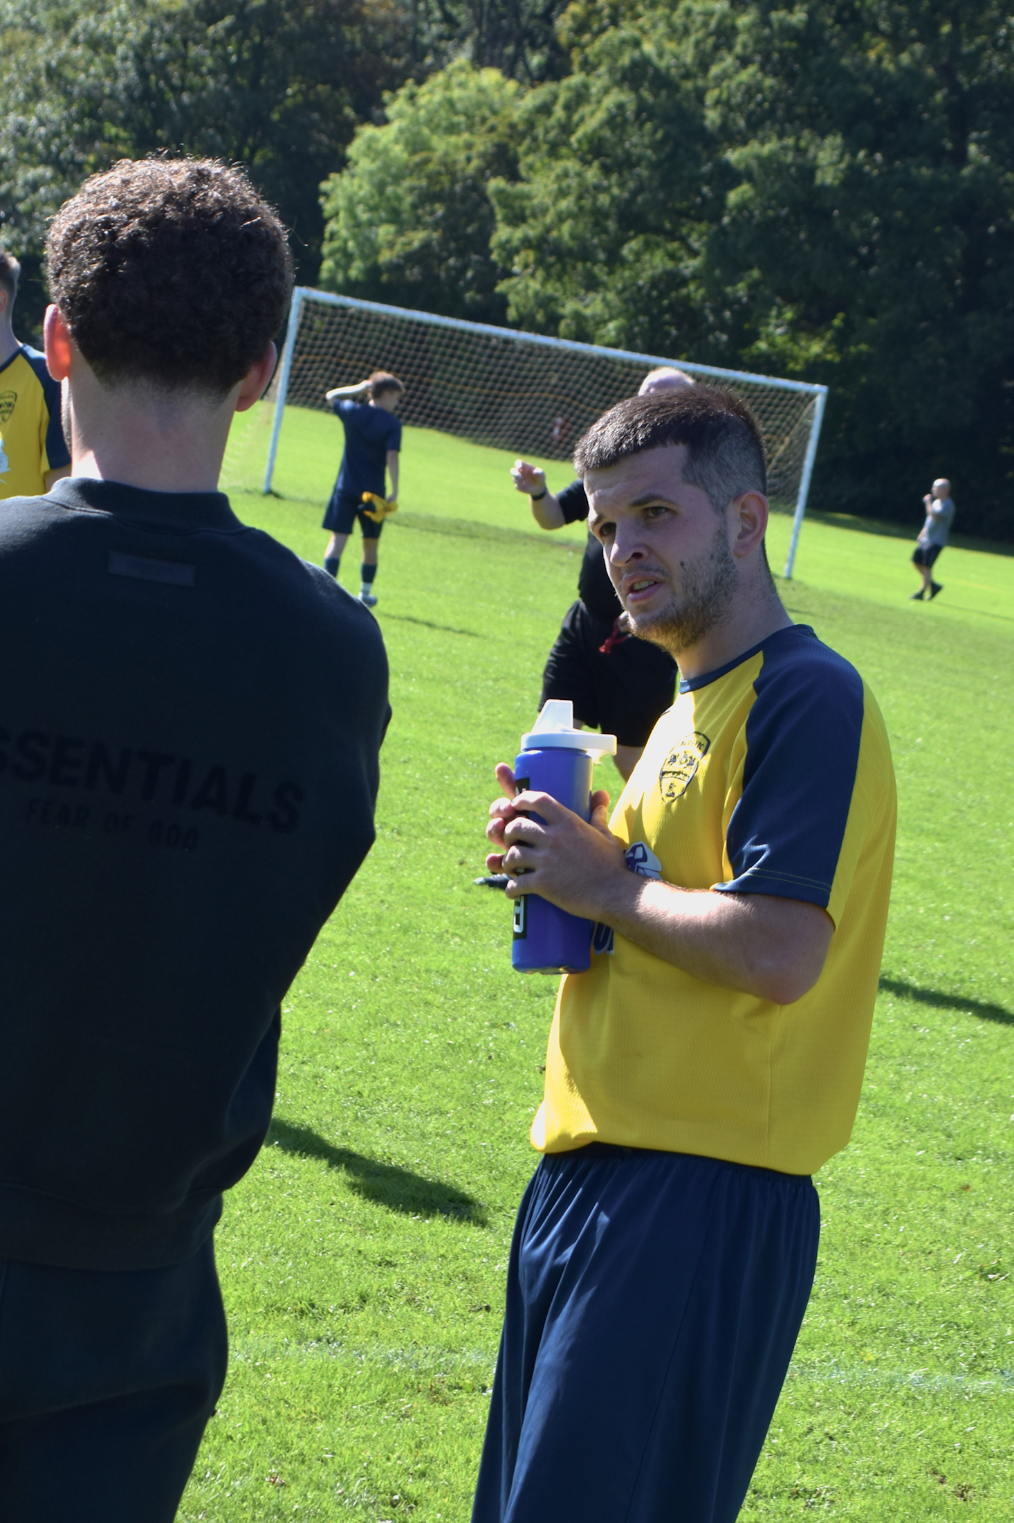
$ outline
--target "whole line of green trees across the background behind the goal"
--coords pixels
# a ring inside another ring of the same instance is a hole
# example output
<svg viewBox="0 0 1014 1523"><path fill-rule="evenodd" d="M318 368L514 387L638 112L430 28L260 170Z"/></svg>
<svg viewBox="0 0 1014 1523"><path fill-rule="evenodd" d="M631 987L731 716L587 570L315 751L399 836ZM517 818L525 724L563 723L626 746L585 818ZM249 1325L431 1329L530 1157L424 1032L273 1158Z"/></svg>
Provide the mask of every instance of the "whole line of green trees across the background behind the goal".
<svg viewBox="0 0 1014 1523"><path fill-rule="evenodd" d="M1014 539L1014 67L996 0L3 0L0 195L242 158L300 279L824 381L813 504ZM17 250L15 250L17 251Z"/></svg>

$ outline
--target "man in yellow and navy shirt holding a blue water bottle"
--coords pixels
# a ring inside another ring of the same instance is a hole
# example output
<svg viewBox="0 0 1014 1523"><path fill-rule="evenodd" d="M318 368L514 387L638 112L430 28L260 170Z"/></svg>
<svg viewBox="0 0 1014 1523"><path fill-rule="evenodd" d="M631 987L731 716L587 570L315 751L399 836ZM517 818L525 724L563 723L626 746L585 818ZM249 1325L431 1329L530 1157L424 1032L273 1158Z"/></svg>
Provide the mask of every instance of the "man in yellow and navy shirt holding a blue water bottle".
<svg viewBox="0 0 1014 1523"><path fill-rule="evenodd" d="M732 1523L810 1295L810 1176L859 1103L891 752L859 673L778 599L738 398L621 402L574 465L681 684L609 821L606 793L585 824L498 768L490 870L595 935L550 1033L474 1520Z"/></svg>

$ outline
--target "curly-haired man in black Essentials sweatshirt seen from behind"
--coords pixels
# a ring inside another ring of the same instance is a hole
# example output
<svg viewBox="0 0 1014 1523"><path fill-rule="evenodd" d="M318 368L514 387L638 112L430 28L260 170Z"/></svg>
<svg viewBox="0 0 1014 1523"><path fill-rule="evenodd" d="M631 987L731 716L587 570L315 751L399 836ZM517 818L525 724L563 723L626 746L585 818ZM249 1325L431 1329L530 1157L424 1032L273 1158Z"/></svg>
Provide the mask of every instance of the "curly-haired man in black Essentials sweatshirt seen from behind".
<svg viewBox="0 0 1014 1523"><path fill-rule="evenodd" d="M387 661L216 490L291 280L247 178L123 161L47 268L73 472L0 516L0 1517L171 1523L225 1375L222 1191L373 842Z"/></svg>

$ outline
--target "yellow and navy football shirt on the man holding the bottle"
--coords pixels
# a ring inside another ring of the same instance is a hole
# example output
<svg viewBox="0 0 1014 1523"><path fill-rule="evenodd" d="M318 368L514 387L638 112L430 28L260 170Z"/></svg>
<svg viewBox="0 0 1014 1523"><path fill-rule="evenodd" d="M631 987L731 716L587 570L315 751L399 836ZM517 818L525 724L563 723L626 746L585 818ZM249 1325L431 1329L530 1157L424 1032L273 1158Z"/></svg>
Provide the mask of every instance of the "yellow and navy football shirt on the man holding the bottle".
<svg viewBox="0 0 1014 1523"><path fill-rule="evenodd" d="M632 871L775 894L834 923L792 1005L684 973L609 928L560 984L536 1148L586 1142L812 1174L851 1135L891 896L895 787L877 704L812 629L681 682L611 819Z"/></svg>

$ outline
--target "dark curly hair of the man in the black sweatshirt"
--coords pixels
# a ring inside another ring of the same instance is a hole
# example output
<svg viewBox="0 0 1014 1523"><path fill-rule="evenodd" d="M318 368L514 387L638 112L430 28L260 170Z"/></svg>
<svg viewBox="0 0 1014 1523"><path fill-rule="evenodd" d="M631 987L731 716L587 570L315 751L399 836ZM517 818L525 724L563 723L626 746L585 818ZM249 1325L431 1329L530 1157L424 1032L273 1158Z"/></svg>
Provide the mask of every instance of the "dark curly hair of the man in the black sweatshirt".
<svg viewBox="0 0 1014 1523"><path fill-rule="evenodd" d="M122 158L56 213L46 273L100 382L224 396L282 327L292 259L242 169Z"/></svg>

